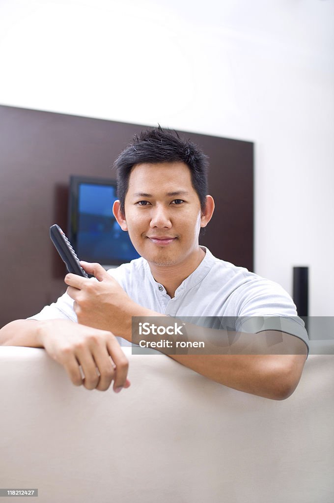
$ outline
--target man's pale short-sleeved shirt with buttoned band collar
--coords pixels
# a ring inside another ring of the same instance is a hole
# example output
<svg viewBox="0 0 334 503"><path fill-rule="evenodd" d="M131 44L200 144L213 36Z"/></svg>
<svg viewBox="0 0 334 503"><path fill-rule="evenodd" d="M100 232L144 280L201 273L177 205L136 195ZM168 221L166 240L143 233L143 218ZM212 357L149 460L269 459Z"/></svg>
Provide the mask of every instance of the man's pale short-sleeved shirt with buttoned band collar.
<svg viewBox="0 0 334 503"><path fill-rule="evenodd" d="M249 333L282 330L302 339L309 351L304 322L279 284L216 259L208 248L201 248L205 251L204 259L177 288L173 299L154 280L143 258L109 269L108 273L134 302L158 313L217 329ZM73 300L67 293L29 319L56 318L77 321ZM124 340L121 342L127 345Z"/></svg>

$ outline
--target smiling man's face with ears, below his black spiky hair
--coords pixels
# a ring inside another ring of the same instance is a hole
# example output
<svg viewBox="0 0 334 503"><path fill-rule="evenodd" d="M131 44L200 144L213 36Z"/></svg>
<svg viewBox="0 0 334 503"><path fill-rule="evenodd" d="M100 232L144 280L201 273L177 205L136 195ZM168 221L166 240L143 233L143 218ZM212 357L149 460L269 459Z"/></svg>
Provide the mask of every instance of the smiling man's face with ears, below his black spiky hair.
<svg viewBox="0 0 334 503"><path fill-rule="evenodd" d="M156 266L186 264L208 221L183 162L137 164L129 177L125 215L119 216L118 211L139 255Z"/></svg>

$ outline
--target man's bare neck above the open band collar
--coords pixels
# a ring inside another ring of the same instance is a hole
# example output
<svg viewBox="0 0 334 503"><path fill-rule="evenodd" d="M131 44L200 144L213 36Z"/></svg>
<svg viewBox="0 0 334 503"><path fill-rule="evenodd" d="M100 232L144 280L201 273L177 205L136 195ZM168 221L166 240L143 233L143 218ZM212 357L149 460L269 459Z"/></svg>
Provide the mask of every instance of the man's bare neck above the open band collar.
<svg viewBox="0 0 334 503"><path fill-rule="evenodd" d="M173 298L177 288L198 268L204 257L205 251L198 247L190 257L187 257L180 264L170 266L157 266L150 262L148 264L155 281L161 283L168 295Z"/></svg>

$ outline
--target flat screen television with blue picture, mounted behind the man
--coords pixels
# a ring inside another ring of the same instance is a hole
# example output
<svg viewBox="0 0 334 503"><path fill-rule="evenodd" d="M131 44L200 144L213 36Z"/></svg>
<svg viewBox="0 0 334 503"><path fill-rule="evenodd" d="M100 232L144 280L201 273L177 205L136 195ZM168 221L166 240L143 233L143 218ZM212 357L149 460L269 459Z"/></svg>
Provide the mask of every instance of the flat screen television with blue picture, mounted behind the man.
<svg viewBox="0 0 334 503"><path fill-rule="evenodd" d="M113 215L116 199L115 180L70 176L67 234L80 260L108 268L139 257Z"/></svg>

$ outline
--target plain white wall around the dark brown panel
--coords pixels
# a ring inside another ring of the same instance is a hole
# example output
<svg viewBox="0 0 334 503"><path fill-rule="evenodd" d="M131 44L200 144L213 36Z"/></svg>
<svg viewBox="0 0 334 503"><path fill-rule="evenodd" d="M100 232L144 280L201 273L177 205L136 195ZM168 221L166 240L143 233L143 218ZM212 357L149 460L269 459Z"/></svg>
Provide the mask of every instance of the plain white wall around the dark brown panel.
<svg viewBox="0 0 334 503"><path fill-rule="evenodd" d="M0 0L0 103L254 141L255 271L292 293L309 266L330 316L333 21L333 0Z"/></svg>

